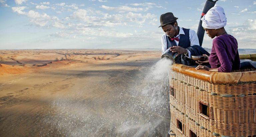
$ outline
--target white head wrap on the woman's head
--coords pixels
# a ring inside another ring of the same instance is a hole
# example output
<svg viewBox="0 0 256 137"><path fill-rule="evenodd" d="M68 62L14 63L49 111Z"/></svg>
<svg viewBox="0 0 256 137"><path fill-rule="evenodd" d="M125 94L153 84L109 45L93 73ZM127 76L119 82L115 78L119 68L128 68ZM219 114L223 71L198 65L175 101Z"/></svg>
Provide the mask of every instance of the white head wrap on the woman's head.
<svg viewBox="0 0 256 137"><path fill-rule="evenodd" d="M206 29L219 29L227 24L224 9L220 6L212 7L201 20L202 26Z"/></svg>

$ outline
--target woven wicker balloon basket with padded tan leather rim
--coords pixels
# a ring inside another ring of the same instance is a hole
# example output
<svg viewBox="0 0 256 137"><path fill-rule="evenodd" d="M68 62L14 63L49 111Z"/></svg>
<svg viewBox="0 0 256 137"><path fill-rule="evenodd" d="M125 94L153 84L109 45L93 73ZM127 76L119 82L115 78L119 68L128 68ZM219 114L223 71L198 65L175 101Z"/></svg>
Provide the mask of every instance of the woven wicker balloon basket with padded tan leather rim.
<svg viewBox="0 0 256 137"><path fill-rule="evenodd" d="M220 73L174 64L169 81L172 135L256 135L256 71Z"/></svg>

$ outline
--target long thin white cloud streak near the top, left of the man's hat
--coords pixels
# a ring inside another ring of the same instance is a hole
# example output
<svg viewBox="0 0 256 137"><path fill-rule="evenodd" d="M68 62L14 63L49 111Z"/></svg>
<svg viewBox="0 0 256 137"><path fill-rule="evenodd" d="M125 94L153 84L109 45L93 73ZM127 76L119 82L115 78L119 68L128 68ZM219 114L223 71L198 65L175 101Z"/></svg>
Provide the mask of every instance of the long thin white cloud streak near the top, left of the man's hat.
<svg viewBox="0 0 256 137"><path fill-rule="evenodd" d="M128 6L109 7L109 6L102 5L102 6L100 6L100 8L103 8L105 10L117 11L120 13L126 12L126 11L135 11L135 12L144 11L143 8L132 8L132 7L128 7Z"/></svg>

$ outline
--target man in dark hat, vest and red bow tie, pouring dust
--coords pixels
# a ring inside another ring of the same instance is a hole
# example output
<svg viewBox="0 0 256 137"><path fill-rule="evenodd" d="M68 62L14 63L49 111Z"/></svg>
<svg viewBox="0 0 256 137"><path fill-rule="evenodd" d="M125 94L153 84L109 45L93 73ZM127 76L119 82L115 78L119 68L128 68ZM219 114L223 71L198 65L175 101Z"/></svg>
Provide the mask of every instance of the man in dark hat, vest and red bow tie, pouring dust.
<svg viewBox="0 0 256 137"><path fill-rule="evenodd" d="M191 29L180 28L176 21L177 19L171 12L160 16L161 25L159 27L162 27L165 32L162 36L162 54L167 49L170 49L172 52L177 52L176 63L188 66L197 65L195 61L191 60L191 55L210 54L199 46L196 32Z"/></svg>

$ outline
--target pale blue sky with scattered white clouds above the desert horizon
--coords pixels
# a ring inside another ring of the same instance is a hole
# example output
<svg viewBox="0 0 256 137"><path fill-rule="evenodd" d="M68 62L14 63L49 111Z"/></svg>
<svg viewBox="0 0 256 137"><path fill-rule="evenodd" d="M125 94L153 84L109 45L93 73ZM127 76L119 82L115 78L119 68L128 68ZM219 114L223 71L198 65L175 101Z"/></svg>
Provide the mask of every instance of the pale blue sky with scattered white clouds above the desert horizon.
<svg viewBox="0 0 256 137"><path fill-rule="evenodd" d="M214 0L215 1L215 0ZM197 32L206 0L0 0L0 49L161 49L160 15ZM256 48L256 0L219 0L238 48ZM204 35L202 47L211 48Z"/></svg>

